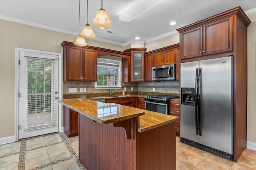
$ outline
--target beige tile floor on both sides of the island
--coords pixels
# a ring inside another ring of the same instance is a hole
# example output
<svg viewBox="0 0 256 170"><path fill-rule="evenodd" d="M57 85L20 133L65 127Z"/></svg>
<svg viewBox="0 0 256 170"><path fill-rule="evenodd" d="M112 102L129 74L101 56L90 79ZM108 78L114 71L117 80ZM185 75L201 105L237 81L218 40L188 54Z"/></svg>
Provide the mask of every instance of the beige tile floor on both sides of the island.
<svg viewBox="0 0 256 170"><path fill-rule="evenodd" d="M78 170L78 137L55 133L0 146L0 170ZM191 147L176 137L176 170L256 170L256 151L237 162Z"/></svg>

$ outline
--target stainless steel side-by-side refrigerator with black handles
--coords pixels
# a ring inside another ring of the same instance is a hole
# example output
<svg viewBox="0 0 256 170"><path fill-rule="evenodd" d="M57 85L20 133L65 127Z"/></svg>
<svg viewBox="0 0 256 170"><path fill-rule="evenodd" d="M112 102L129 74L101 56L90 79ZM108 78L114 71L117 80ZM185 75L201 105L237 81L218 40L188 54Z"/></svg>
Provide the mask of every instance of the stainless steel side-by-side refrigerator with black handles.
<svg viewBox="0 0 256 170"><path fill-rule="evenodd" d="M233 160L232 56L180 65L180 141Z"/></svg>

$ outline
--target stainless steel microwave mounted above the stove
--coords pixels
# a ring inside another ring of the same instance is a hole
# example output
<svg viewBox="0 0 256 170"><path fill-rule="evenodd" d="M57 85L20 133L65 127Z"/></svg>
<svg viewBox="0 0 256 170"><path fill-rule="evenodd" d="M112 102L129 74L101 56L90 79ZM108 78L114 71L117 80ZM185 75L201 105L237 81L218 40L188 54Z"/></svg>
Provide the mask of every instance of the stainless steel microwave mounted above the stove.
<svg viewBox="0 0 256 170"><path fill-rule="evenodd" d="M152 67L152 80L175 80L176 64Z"/></svg>

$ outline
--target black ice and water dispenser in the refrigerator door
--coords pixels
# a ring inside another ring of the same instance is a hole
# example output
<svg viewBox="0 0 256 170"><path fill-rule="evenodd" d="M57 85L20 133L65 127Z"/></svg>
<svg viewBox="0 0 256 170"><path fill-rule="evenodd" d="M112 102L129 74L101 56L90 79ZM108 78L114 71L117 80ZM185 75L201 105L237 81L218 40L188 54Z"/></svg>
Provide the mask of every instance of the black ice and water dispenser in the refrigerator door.
<svg viewBox="0 0 256 170"><path fill-rule="evenodd" d="M181 88L181 104L196 105L195 88Z"/></svg>

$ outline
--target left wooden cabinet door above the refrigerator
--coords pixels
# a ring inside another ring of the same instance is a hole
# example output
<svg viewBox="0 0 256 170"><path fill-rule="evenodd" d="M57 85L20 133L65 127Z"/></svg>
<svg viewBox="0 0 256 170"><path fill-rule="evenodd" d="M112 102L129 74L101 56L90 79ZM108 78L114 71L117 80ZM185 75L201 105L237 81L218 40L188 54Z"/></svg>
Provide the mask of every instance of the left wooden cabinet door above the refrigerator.
<svg viewBox="0 0 256 170"><path fill-rule="evenodd" d="M202 26L180 33L181 59L202 56Z"/></svg>

